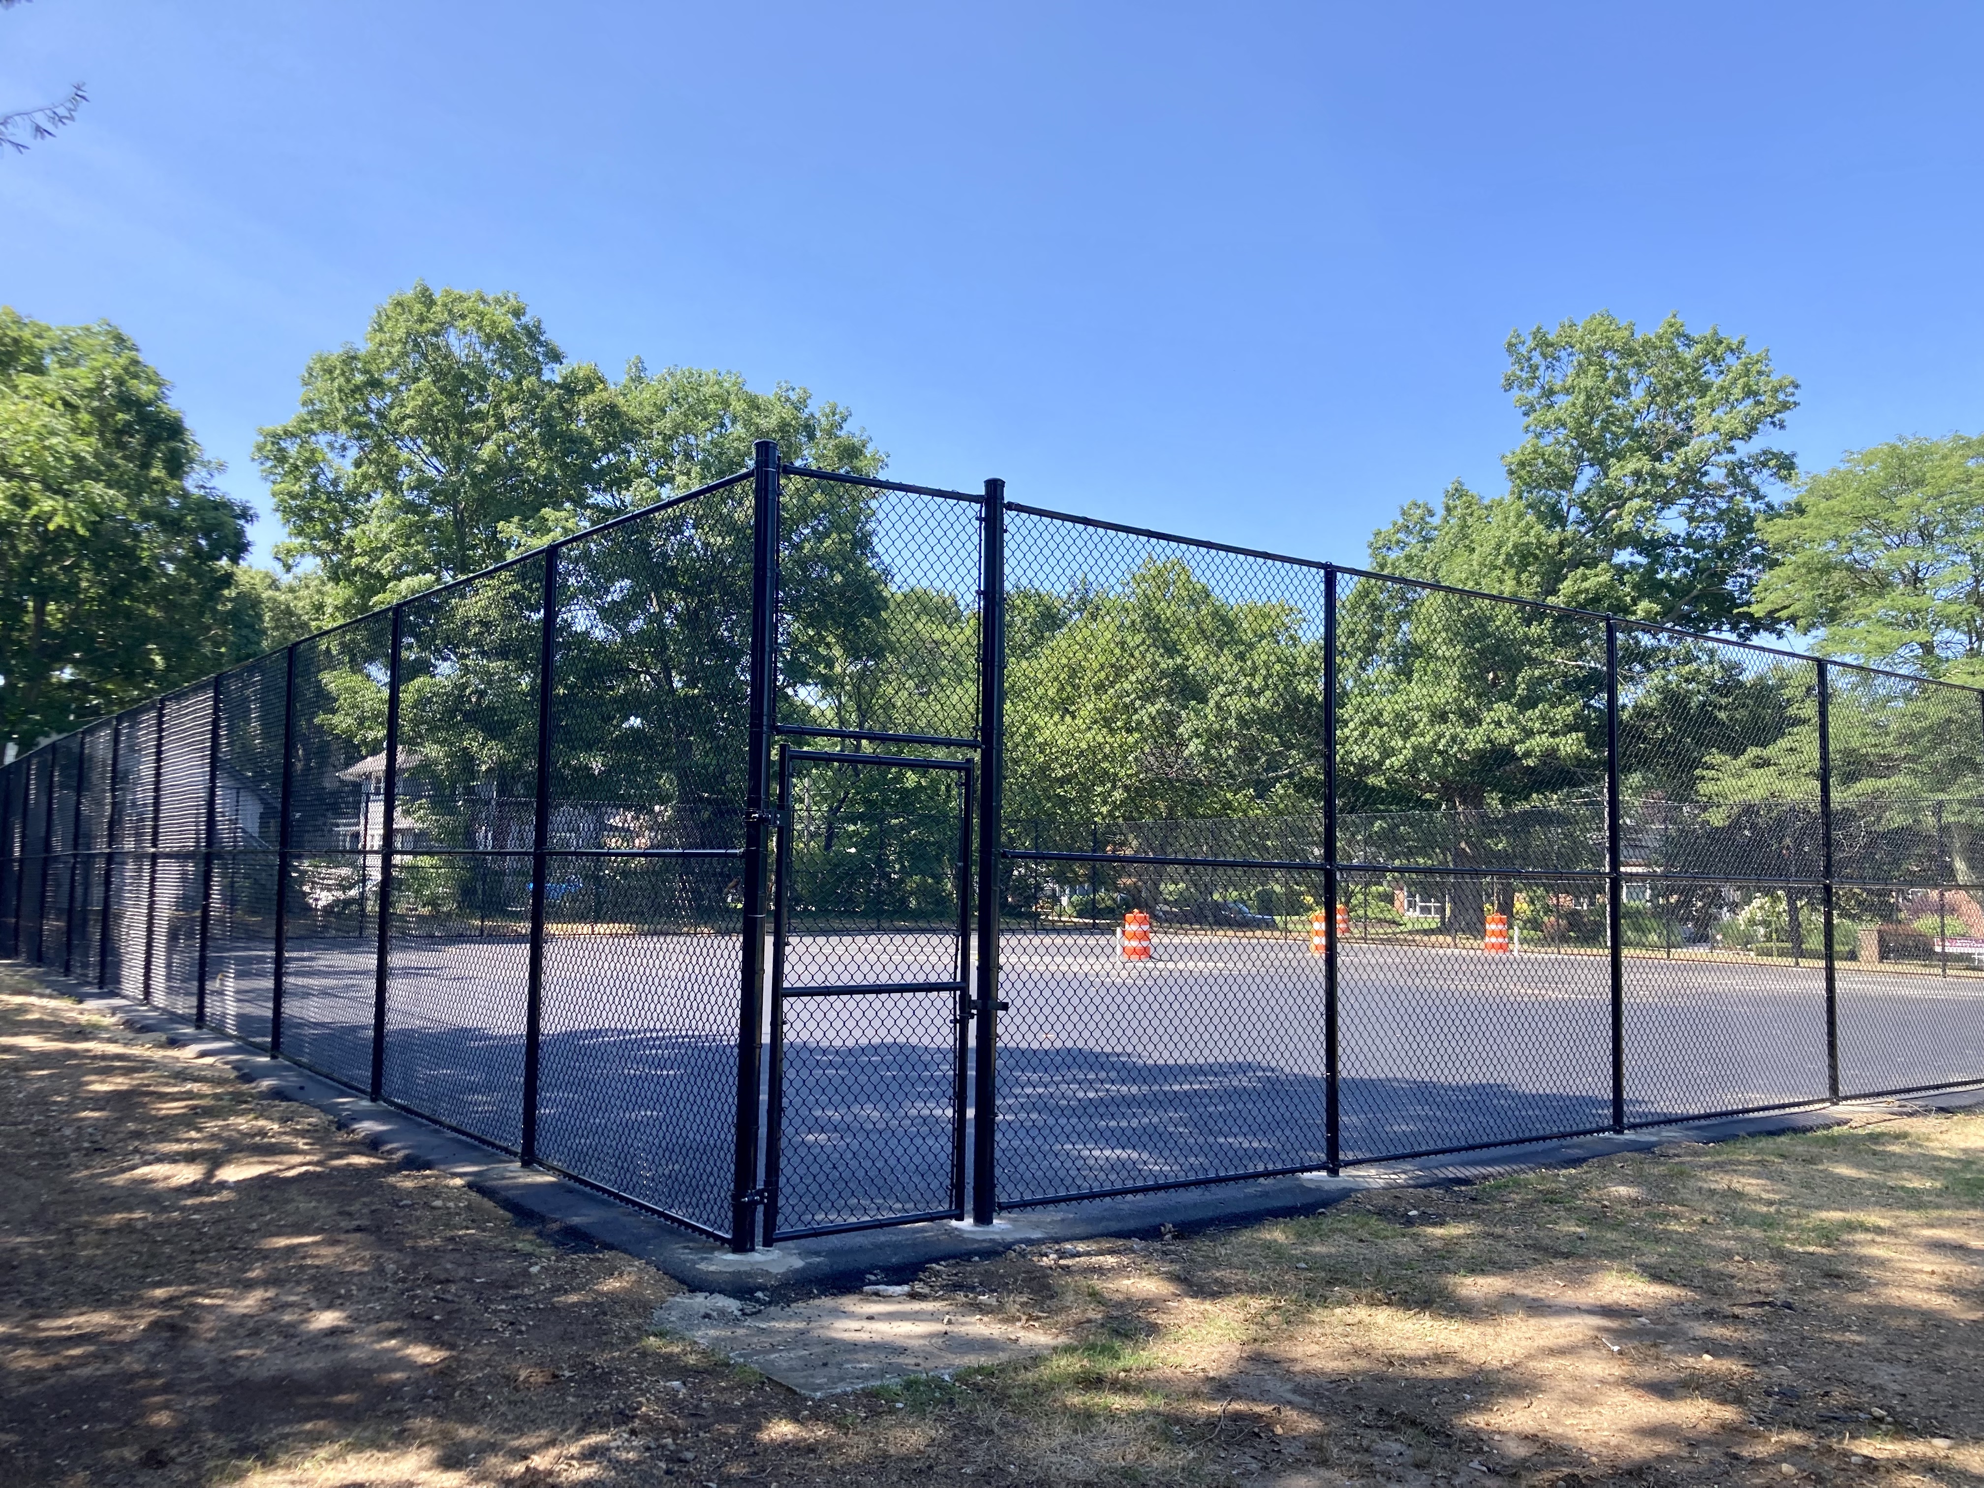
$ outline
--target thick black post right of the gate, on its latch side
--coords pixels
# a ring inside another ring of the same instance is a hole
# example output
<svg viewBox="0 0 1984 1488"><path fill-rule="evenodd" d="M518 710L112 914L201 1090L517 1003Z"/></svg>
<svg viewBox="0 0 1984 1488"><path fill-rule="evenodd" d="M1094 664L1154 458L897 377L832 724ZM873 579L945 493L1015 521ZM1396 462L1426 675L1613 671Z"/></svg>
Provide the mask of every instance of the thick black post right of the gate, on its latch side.
<svg viewBox="0 0 1984 1488"><path fill-rule="evenodd" d="M1006 790L1006 482L978 510L978 996L972 1004L972 1224L998 1216L998 952ZM1095 901L1089 899L1089 915Z"/></svg>

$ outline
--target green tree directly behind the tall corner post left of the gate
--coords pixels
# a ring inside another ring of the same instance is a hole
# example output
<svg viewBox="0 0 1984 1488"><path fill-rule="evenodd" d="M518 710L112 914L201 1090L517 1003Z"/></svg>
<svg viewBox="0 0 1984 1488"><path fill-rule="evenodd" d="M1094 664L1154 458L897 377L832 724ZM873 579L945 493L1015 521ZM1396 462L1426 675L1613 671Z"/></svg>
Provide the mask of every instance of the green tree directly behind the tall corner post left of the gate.
<svg viewBox="0 0 1984 1488"><path fill-rule="evenodd" d="M748 466L760 438L815 470L873 476L883 464L845 409L815 407L806 389L752 393L734 373L677 367L651 377L635 363L619 395L633 434L625 500L637 506ZM875 498L792 476L782 518L782 716L889 726L877 720L899 714L863 688L903 690L901 669L889 665L889 615L913 601L893 597ZM671 806L669 831L722 839L746 766L750 486L579 540L563 550L559 573L571 609L559 655L559 684L571 688L559 714L561 788Z"/></svg>

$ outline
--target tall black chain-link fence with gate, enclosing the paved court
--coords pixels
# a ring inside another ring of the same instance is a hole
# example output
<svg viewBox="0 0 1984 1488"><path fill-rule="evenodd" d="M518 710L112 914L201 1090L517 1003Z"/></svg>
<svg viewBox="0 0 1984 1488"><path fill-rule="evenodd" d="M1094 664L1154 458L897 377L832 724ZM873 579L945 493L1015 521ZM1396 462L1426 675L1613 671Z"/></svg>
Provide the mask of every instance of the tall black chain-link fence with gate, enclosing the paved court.
<svg viewBox="0 0 1984 1488"><path fill-rule="evenodd" d="M10 762L0 952L732 1246L982 1222L1984 1081L1984 694L764 444Z"/></svg>

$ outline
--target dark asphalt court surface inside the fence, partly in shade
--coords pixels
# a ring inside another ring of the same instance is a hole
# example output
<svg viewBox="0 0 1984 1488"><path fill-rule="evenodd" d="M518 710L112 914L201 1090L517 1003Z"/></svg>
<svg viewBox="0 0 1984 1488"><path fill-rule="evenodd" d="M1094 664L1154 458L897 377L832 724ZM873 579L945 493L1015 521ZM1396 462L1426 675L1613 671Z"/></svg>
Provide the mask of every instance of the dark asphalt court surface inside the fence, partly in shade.
<svg viewBox="0 0 1984 1488"><path fill-rule="evenodd" d="M944 934L813 934L788 986L948 978ZM395 938L387 1095L518 1143L522 938ZM1323 958L1307 938L1159 927L1151 962L1115 936L1002 938L1000 1192L1008 1202L1228 1173L1321 1167ZM712 1228L728 1222L738 942L554 934L546 942L540 1149ZM1605 954L1345 942L1343 1159L1605 1127ZM266 948L220 948L208 1010L264 1036ZM1843 1093L1984 1073L1984 974L1841 966ZM948 1204L952 994L788 1000L782 1228ZM373 942L292 940L284 1052L363 1085ZM1627 1119L1827 1093L1821 966L1625 958Z"/></svg>

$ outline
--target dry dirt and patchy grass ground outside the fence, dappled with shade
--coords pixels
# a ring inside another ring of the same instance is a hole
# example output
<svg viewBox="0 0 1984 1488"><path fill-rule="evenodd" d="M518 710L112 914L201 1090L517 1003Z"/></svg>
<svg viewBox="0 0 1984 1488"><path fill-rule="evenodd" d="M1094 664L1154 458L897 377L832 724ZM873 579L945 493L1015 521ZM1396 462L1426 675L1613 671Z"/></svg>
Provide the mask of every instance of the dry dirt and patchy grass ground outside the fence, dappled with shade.
<svg viewBox="0 0 1984 1488"><path fill-rule="evenodd" d="M1976 1115L932 1268L1081 1341L825 1405L18 976L0 1173L4 1484L1984 1484Z"/></svg>

